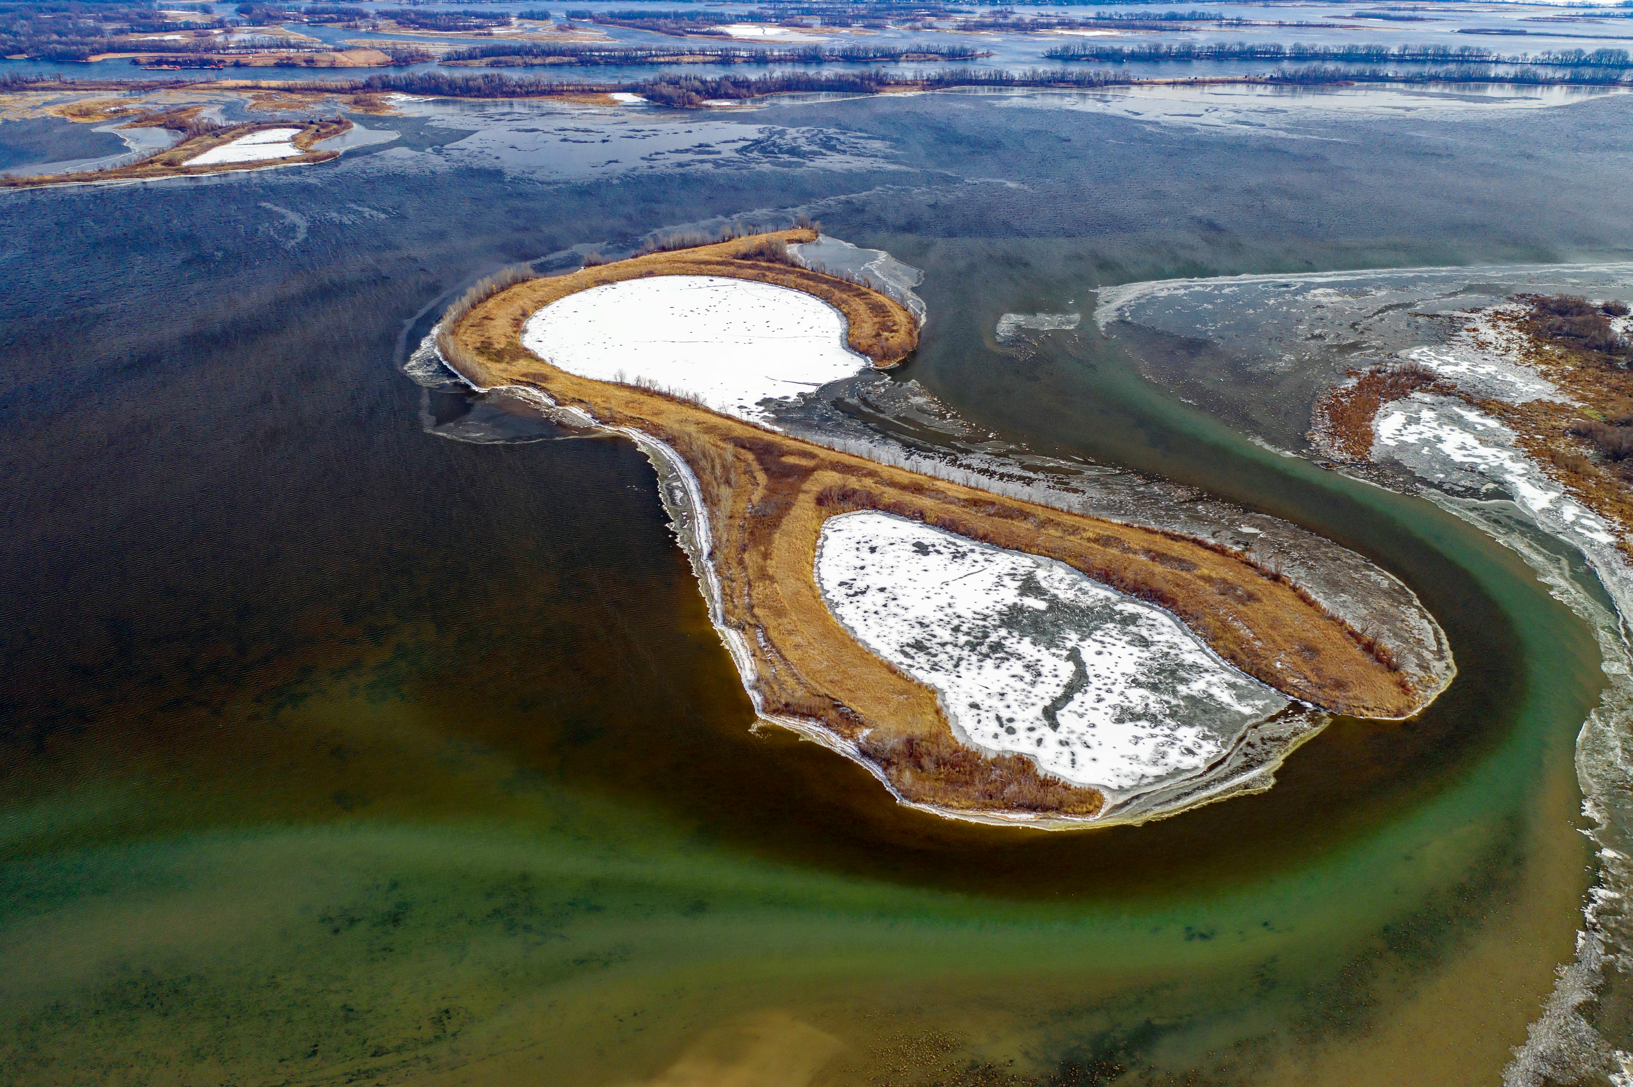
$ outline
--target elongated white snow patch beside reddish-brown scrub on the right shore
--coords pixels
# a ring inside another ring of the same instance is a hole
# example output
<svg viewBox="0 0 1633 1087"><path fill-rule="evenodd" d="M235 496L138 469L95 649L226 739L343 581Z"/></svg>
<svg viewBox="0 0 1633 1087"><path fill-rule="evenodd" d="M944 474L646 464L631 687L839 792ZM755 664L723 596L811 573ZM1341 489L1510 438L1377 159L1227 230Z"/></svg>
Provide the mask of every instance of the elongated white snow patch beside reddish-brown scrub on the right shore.
<svg viewBox="0 0 1633 1087"><path fill-rule="evenodd" d="M1595 544L1615 544L1610 527L1514 447L1496 419L1444 397L1386 405L1377 419L1375 460L1393 459L1439 485L1484 490L1494 483L1545 526L1558 524Z"/></svg>

